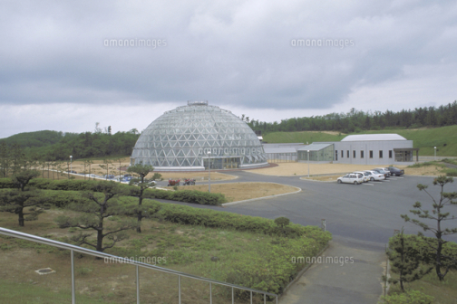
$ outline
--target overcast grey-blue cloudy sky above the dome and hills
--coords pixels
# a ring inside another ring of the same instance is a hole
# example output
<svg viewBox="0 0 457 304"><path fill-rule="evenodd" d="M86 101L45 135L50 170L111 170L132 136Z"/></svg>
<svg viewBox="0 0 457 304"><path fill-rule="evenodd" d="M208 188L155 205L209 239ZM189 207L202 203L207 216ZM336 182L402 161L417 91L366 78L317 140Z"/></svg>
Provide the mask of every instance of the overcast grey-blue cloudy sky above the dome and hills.
<svg viewBox="0 0 457 304"><path fill-rule="evenodd" d="M0 138L141 131L187 100L266 121L440 106L456 59L455 1L4 0Z"/></svg>

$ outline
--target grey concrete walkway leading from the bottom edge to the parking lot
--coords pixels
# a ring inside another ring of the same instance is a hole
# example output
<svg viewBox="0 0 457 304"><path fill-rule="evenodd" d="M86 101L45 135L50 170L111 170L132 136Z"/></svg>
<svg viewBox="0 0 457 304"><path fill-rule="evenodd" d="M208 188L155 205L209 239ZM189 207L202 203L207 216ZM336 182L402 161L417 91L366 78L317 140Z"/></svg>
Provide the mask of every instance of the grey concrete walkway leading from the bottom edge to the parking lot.
<svg viewBox="0 0 457 304"><path fill-rule="evenodd" d="M322 261L313 264L279 303L375 304L383 292L385 262L380 246L336 239L330 242Z"/></svg>

